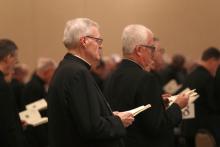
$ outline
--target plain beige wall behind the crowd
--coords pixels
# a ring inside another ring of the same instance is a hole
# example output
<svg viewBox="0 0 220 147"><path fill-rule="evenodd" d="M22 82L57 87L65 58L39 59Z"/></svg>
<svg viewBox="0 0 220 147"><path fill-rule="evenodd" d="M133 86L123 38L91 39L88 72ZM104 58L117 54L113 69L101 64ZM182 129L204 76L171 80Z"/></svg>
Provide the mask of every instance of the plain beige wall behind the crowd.
<svg viewBox="0 0 220 147"><path fill-rule="evenodd" d="M198 59L203 49L220 47L219 0L0 0L0 38L13 39L20 60L34 68L38 57L60 60L65 22L89 17L101 26L104 54L121 54L124 26L149 27L169 54Z"/></svg>

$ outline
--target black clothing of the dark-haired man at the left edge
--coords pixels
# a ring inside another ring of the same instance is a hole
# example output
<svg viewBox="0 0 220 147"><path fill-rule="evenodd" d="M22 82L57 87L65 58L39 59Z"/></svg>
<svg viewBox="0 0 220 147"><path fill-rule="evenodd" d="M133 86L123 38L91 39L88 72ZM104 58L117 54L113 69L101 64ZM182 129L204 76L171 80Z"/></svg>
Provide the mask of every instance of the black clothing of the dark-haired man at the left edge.
<svg viewBox="0 0 220 147"><path fill-rule="evenodd" d="M12 89L0 71L0 146L26 147Z"/></svg>

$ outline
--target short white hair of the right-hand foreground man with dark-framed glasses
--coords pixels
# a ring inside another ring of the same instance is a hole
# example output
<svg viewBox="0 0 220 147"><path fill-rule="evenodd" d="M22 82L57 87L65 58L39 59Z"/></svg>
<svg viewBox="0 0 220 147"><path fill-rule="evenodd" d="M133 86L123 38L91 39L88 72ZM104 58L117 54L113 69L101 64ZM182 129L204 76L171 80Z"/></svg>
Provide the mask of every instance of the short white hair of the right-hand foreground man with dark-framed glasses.
<svg viewBox="0 0 220 147"><path fill-rule="evenodd" d="M122 33L123 54L132 53L136 45L144 45L152 39L153 33L143 25L132 24L124 28Z"/></svg>

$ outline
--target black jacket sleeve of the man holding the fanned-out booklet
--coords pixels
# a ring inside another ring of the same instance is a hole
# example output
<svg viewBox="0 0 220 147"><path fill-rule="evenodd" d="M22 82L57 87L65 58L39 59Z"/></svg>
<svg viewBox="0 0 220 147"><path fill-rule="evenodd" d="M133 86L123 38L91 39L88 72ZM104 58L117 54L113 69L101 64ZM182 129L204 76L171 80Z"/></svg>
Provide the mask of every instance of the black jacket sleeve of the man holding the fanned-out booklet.
<svg viewBox="0 0 220 147"><path fill-rule="evenodd" d="M169 109L165 109L161 98L162 90L153 75L144 76L140 82L136 96L137 103L151 104L151 108L138 115L137 123L152 135L173 129L182 119L179 106L173 104Z"/></svg>

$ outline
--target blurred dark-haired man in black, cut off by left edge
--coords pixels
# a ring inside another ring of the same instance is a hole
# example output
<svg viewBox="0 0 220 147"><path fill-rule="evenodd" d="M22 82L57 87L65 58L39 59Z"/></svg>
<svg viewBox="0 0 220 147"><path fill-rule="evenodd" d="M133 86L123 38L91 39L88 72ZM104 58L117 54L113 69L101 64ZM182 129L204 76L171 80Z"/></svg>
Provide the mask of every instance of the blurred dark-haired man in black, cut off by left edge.
<svg viewBox="0 0 220 147"><path fill-rule="evenodd" d="M12 88L5 81L17 62L17 46L8 39L0 39L0 146L25 147L21 121L16 109Z"/></svg>

